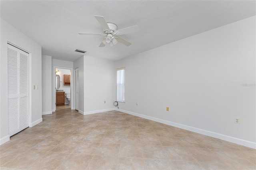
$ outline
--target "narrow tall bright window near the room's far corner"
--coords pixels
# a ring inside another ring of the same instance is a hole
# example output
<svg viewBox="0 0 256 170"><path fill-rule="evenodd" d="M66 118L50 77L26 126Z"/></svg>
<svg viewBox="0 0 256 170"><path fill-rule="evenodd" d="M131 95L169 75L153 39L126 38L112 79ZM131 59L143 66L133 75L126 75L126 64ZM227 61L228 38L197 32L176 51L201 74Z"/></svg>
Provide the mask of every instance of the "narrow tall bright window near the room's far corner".
<svg viewBox="0 0 256 170"><path fill-rule="evenodd" d="M116 101L124 103L124 68L116 69Z"/></svg>

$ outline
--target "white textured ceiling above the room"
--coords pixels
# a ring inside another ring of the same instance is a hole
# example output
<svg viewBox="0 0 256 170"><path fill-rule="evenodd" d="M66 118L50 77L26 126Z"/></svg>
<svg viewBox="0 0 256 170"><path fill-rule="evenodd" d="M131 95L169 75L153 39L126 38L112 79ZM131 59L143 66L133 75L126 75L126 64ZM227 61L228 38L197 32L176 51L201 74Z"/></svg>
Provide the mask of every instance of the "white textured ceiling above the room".
<svg viewBox="0 0 256 170"><path fill-rule="evenodd" d="M82 53L119 60L170 42L256 15L256 1L152 0L152 1L0 1L0 17L42 45L42 54L75 61ZM132 43L98 47L103 36L95 15L118 29L137 25L139 32L120 36ZM185 49L184 49L185 50Z"/></svg>

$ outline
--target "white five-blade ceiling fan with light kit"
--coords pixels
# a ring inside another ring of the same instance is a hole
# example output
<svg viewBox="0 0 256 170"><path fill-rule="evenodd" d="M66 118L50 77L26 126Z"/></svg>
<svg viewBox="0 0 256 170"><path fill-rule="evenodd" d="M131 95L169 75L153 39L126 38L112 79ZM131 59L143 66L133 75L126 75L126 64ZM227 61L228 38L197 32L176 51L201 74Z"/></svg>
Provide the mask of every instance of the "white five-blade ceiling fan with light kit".
<svg viewBox="0 0 256 170"><path fill-rule="evenodd" d="M80 35L100 35L106 36L99 47L105 47L106 43L109 43L110 46L116 45L117 42L120 42L126 46L131 45L132 43L122 39L119 35L129 34L139 30L138 26L131 26L127 28L122 28L117 30L116 24L107 23L103 16L95 16L96 20L100 23L103 28L103 33L87 33L87 32L78 32Z"/></svg>

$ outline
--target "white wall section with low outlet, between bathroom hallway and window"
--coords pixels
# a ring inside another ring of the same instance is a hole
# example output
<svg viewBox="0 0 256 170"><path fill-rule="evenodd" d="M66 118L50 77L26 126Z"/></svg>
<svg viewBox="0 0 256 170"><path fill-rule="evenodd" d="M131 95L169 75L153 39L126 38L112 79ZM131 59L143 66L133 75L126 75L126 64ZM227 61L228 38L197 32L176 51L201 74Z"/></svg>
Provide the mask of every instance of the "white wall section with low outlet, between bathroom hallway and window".
<svg viewBox="0 0 256 170"><path fill-rule="evenodd" d="M115 75L114 61L84 56L84 114L113 110Z"/></svg>

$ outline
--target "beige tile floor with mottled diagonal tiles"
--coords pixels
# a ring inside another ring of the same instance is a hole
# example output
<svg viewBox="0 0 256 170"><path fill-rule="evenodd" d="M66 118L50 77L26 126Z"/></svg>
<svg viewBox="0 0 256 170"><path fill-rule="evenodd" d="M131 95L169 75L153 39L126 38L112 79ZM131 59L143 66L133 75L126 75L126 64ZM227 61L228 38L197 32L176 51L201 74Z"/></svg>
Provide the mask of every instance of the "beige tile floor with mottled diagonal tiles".
<svg viewBox="0 0 256 170"><path fill-rule="evenodd" d="M118 111L57 107L0 146L4 169L256 169L256 150Z"/></svg>

